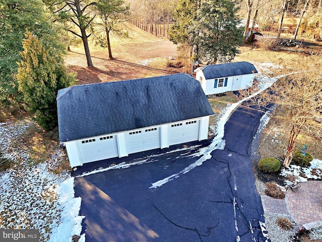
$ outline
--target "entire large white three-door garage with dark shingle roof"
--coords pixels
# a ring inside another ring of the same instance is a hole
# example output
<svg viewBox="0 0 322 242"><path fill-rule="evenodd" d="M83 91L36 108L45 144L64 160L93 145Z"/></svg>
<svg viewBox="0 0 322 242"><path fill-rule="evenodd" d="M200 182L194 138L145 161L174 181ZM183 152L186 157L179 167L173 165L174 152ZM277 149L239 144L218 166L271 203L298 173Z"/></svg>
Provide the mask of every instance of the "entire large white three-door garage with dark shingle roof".
<svg viewBox="0 0 322 242"><path fill-rule="evenodd" d="M57 95L70 166L208 138L212 108L187 74L76 85Z"/></svg>

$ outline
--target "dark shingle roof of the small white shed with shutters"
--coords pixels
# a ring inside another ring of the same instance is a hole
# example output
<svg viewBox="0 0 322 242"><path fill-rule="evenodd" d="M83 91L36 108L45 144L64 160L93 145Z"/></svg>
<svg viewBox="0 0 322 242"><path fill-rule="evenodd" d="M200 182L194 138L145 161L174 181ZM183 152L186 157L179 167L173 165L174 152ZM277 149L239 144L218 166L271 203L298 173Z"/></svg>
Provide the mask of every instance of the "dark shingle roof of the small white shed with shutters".
<svg viewBox="0 0 322 242"><path fill-rule="evenodd" d="M200 67L206 79L221 77L239 76L245 74L258 73L253 64L249 62L232 62L218 65Z"/></svg>

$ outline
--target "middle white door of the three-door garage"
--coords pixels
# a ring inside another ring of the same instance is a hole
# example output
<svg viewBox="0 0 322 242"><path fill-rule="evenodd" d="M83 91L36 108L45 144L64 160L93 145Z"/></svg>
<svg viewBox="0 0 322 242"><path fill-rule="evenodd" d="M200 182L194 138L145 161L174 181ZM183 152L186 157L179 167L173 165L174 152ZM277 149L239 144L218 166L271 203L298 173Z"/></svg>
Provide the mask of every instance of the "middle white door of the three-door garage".
<svg viewBox="0 0 322 242"><path fill-rule="evenodd" d="M125 142L128 154L161 147L160 128L148 128L127 132Z"/></svg>

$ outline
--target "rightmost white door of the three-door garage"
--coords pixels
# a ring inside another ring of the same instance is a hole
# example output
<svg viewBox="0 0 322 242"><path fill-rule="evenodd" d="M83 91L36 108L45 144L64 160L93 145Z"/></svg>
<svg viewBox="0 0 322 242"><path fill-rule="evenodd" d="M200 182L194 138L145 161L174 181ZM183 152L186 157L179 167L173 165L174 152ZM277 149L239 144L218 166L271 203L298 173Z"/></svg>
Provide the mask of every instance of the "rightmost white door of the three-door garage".
<svg viewBox="0 0 322 242"><path fill-rule="evenodd" d="M200 120L169 125L169 145L198 140Z"/></svg>

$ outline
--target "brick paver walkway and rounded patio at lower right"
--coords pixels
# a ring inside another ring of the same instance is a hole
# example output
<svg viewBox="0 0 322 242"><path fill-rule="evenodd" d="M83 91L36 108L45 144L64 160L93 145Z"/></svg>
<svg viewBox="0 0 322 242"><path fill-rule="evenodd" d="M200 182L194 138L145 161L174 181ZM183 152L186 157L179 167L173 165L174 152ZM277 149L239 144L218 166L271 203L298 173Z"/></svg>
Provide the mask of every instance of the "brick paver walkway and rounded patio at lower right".
<svg viewBox="0 0 322 242"><path fill-rule="evenodd" d="M299 226L310 228L322 221L322 181L307 181L294 191L288 190L285 199L261 195L265 213L290 215Z"/></svg>

